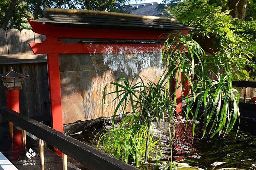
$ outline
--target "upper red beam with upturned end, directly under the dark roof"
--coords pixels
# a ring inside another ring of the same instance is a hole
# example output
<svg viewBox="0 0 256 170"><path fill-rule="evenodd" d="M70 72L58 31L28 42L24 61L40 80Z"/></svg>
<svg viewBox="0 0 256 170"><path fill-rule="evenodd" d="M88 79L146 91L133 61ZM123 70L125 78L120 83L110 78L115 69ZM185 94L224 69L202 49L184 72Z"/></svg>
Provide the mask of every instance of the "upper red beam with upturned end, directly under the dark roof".
<svg viewBox="0 0 256 170"><path fill-rule="evenodd" d="M68 38L97 38L97 39L166 39L171 31L139 31L139 30L112 30L92 28L70 28L42 24L27 18L33 31L38 34ZM167 34L166 34L167 33ZM166 36L162 36L166 34Z"/></svg>

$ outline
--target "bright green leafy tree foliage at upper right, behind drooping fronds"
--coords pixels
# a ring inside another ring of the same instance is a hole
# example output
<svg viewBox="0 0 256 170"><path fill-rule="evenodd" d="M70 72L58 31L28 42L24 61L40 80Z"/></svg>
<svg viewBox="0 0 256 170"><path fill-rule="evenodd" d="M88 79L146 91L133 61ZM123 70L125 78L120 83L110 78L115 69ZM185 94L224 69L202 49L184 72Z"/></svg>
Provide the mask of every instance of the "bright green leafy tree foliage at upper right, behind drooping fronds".
<svg viewBox="0 0 256 170"><path fill-rule="evenodd" d="M185 0L171 8L180 22L203 31L191 32L207 60L231 70L233 79L256 80L256 22L232 18L230 10L208 0Z"/></svg>

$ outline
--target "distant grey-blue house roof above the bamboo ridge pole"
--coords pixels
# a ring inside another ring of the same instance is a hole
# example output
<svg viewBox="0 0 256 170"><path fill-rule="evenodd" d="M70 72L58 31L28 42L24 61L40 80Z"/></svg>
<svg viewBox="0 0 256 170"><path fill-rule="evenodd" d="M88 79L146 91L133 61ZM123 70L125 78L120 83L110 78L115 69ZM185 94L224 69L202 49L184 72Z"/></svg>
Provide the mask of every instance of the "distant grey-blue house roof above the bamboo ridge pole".
<svg viewBox="0 0 256 170"><path fill-rule="evenodd" d="M145 5L144 5L145 4ZM153 5L151 5L153 4ZM138 9L134 9L133 5L139 5ZM129 5L129 12L131 14L137 14L137 15L152 15L157 17L169 17L169 13L166 13L164 11L157 11L156 6L158 5L157 2L154 3L142 3L142 4L131 4Z"/></svg>

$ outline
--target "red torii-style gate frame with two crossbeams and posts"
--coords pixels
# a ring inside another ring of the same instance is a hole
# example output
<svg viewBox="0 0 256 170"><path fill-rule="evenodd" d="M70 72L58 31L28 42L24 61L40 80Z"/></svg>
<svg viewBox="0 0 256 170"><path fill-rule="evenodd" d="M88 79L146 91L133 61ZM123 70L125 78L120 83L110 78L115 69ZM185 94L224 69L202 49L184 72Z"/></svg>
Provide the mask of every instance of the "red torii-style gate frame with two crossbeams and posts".
<svg viewBox="0 0 256 170"><path fill-rule="evenodd" d="M46 41L42 43L29 43L35 54L47 54L48 81L50 93L50 107L52 128L63 132L62 109L61 109L61 91L60 91L60 69L59 54L67 53L107 53L106 44L79 44L62 43L58 37L63 38L89 38L89 39L165 39L163 34L169 34L171 31L144 31L144 30L117 30L117 29L95 29L95 28L72 28L47 25L31 21L27 18L34 32L46 36ZM188 30L182 30L183 34L188 34ZM156 44L108 44L113 46L113 51L118 52L120 46L140 46L138 52L153 52L147 47L156 47ZM143 46L143 48L141 48ZM97 47L97 48L96 48ZM163 44L158 44L156 48L164 49ZM124 51L130 53L132 51ZM178 81L181 80L181 74ZM174 81L175 85L175 81ZM177 98L181 97L181 89L177 90ZM181 101L177 103L177 113L181 112Z"/></svg>

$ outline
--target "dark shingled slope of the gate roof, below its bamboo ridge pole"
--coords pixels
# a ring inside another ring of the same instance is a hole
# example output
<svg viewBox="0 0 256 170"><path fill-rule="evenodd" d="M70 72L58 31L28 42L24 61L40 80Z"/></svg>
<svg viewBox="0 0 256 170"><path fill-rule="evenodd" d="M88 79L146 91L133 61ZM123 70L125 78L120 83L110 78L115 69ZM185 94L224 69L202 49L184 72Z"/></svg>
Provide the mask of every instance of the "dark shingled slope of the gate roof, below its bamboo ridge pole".
<svg viewBox="0 0 256 170"><path fill-rule="evenodd" d="M45 12L44 18L39 18L32 21L44 22L45 24L61 27L76 28L145 31L197 30L196 28L184 25L179 21L65 12Z"/></svg>

